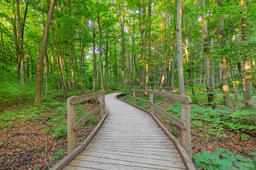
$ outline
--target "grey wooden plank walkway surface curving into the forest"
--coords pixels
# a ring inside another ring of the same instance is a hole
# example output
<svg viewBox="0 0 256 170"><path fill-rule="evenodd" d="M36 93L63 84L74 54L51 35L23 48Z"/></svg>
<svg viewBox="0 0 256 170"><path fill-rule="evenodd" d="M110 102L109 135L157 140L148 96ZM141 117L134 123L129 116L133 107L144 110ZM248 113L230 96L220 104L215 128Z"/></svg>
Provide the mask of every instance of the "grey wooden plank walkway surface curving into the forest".
<svg viewBox="0 0 256 170"><path fill-rule="evenodd" d="M64 169L186 169L175 145L153 118L116 95L105 96L105 122Z"/></svg>

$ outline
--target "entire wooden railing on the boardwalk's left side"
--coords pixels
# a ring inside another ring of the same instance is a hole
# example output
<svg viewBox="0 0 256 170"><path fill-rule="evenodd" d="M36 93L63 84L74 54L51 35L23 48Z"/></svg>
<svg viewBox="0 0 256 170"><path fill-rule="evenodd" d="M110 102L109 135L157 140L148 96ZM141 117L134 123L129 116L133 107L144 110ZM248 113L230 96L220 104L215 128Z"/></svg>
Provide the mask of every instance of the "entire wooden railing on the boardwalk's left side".
<svg viewBox="0 0 256 170"><path fill-rule="evenodd" d="M85 115L80 120L77 120L76 106L83 101L88 101L93 98L98 98L100 106L95 108L89 114ZM100 111L101 115L105 115L105 91L98 91L92 94L81 96L70 96L68 98L68 154L78 147L78 130L80 126Z"/></svg>

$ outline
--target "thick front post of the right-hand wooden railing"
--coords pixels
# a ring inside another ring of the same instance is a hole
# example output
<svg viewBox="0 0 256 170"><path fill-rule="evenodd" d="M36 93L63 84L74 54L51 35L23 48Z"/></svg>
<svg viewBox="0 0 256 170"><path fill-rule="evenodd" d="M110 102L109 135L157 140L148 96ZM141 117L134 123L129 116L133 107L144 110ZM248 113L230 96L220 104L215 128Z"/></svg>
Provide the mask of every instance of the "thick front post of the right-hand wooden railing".
<svg viewBox="0 0 256 170"><path fill-rule="evenodd" d="M186 125L186 128L181 130L181 145L186 150L188 156L192 157L190 111L191 106L189 104L181 103L181 121Z"/></svg>

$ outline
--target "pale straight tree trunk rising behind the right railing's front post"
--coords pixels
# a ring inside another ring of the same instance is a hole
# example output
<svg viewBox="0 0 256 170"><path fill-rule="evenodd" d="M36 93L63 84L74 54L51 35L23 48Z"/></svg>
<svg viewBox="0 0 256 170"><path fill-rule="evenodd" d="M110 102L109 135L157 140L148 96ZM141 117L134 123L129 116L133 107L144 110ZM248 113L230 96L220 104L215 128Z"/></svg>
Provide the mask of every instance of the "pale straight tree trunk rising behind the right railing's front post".
<svg viewBox="0 0 256 170"><path fill-rule="evenodd" d="M184 85L183 67L182 67L181 15L182 15L182 0L177 0L176 39L177 39L178 89L180 94L185 94L185 85Z"/></svg>

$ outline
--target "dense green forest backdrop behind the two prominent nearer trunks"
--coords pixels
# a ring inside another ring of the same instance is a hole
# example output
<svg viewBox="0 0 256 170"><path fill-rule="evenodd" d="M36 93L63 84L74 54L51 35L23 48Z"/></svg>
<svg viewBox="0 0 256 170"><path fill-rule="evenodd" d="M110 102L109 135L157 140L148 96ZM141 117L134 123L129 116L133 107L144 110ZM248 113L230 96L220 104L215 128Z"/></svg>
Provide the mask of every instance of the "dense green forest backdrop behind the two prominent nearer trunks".
<svg viewBox="0 0 256 170"><path fill-rule="evenodd" d="M48 6L1 2L1 81L33 88L43 59L43 91L62 89L64 96L100 89L101 81L105 89L177 87L176 1L57 1L38 60ZM213 102L223 87L227 106L229 89L252 106L254 19L252 1L183 3L183 77L193 94L193 86L206 85Z"/></svg>

